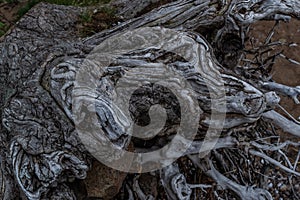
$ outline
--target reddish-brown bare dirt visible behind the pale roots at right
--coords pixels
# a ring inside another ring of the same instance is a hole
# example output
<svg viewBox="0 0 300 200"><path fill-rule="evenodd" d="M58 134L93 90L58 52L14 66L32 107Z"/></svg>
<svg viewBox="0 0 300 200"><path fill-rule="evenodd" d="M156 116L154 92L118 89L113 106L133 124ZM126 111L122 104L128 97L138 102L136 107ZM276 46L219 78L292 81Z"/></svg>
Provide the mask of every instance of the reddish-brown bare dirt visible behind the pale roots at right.
<svg viewBox="0 0 300 200"><path fill-rule="evenodd" d="M249 39L251 37L255 38L255 46L261 45L274 25L275 22L273 21L260 21L255 23L251 26ZM282 50L282 54L284 54L286 58L277 57L272 71L273 80L288 86L300 86L300 65L294 64L287 59L289 58L300 62L300 20L292 19L290 22L281 21L274 29L272 42L275 41L294 45L274 48L276 52ZM297 119L300 116L300 105L295 104L292 99L281 96L280 105L292 114L294 118ZM278 112L283 114L280 110L278 110ZM289 134L284 135L291 137Z"/></svg>

